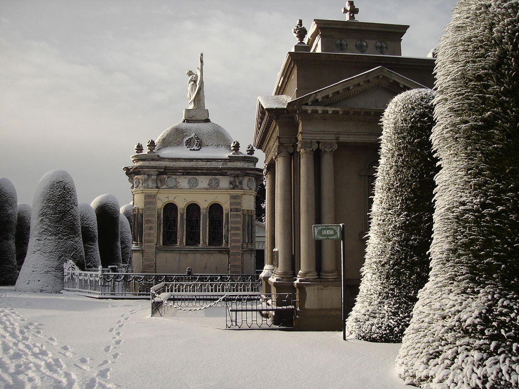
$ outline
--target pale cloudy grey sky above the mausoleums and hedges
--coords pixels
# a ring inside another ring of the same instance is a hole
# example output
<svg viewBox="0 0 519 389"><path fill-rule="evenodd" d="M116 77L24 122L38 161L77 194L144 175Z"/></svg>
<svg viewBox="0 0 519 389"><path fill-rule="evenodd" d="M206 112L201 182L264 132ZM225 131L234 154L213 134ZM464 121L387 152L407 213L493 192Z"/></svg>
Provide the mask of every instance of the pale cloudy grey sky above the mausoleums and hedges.
<svg viewBox="0 0 519 389"><path fill-rule="evenodd" d="M406 57L438 44L455 0L355 2L357 20L409 25ZM182 120L187 70L204 54L206 108L242 148L272 93L297 19L345 20L336 0L0 0L0 177L32 204L66 170L79 202L131 202L134 145ZM263 166L263 154L258 167Z"/></svg>

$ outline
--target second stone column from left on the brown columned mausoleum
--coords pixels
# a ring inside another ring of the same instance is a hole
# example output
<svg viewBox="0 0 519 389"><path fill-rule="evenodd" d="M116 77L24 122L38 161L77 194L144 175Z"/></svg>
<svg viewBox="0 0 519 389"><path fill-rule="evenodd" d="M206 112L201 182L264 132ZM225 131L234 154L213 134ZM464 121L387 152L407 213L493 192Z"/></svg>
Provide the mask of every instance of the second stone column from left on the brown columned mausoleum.
<svg viewBox="0 0 519 389"><path fill-rule="evenodd" d="M292 155L291 145L279 145L276 153L276 279L293 279L292 269Z"/></svg>

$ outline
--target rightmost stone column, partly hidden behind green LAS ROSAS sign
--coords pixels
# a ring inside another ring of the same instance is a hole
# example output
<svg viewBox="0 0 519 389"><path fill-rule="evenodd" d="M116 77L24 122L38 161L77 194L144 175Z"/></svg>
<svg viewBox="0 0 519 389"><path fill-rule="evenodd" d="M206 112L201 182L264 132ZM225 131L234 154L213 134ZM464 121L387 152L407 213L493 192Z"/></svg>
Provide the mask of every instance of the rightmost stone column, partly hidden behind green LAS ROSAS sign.
<svg viewBox="0 0 519 389"><path fill-rule="evenodd" d="M321 142L321 224L335 224L335 176L333 171L333 152L336 142ZM321 241L321 273L325 279L336 279L337 248L335 240Z"/></svg>

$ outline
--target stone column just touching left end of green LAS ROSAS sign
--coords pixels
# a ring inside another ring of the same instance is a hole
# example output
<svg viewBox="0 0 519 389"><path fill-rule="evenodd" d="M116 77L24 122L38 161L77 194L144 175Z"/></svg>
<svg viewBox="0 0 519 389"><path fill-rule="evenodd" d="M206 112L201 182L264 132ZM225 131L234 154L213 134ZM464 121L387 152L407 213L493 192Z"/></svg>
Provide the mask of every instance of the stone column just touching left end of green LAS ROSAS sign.
<svg viewBox="0 0 519 389"><path fill-rule="evenodd" d="M297 151L301 153L301 270L298 279L316 279L316 243L312 237L312 225L316 223L315 178L313 174L313 152L315 141L299 141Z"/></svg>

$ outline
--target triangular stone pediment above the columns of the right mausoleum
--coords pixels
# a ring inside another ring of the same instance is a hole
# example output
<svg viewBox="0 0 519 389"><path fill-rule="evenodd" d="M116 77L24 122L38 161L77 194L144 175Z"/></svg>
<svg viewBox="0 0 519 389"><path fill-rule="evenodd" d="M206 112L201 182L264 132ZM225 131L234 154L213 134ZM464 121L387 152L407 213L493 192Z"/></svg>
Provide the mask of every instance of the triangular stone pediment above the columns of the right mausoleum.
<svg viewBox="0 0 519 389"><path fill-rule="evenodd" d="M292 100L287 107L386 108L395 95L416 88L427 87L379 66Z"/></svg>

